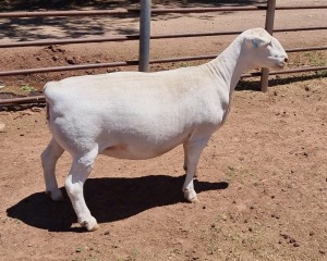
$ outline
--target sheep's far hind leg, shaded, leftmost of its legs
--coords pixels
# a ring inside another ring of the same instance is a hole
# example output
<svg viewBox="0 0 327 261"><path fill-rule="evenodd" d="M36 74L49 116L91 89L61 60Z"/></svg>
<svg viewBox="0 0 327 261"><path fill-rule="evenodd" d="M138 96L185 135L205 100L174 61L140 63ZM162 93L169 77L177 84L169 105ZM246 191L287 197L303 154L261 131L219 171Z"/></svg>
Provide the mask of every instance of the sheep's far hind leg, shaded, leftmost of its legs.
<svg viewBox="0 0 327 261"><path fill-rule="evenodd" d="M55 173L56 163L62 156L63 151L64 150L60 147L60 145L52 138L48 147L41 153L46 194L55 201L61 200L63 198L61 190L58 188Z"/></svg>

